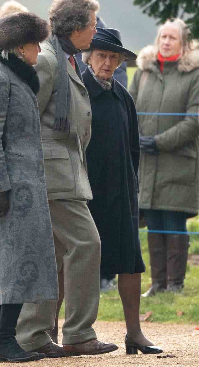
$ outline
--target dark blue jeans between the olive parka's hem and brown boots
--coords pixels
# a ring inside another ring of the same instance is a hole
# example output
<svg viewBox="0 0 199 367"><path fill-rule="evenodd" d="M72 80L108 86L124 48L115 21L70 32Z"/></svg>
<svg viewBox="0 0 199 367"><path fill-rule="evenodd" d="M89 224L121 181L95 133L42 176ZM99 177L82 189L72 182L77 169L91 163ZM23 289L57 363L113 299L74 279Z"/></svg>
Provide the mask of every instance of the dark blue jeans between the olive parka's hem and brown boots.
<svg viewBox="0 0 199 367"><path fill-rule="evenodd" d="M143 211L149 230L187 231L187 213L185 212L153 209Z"/></svg>

